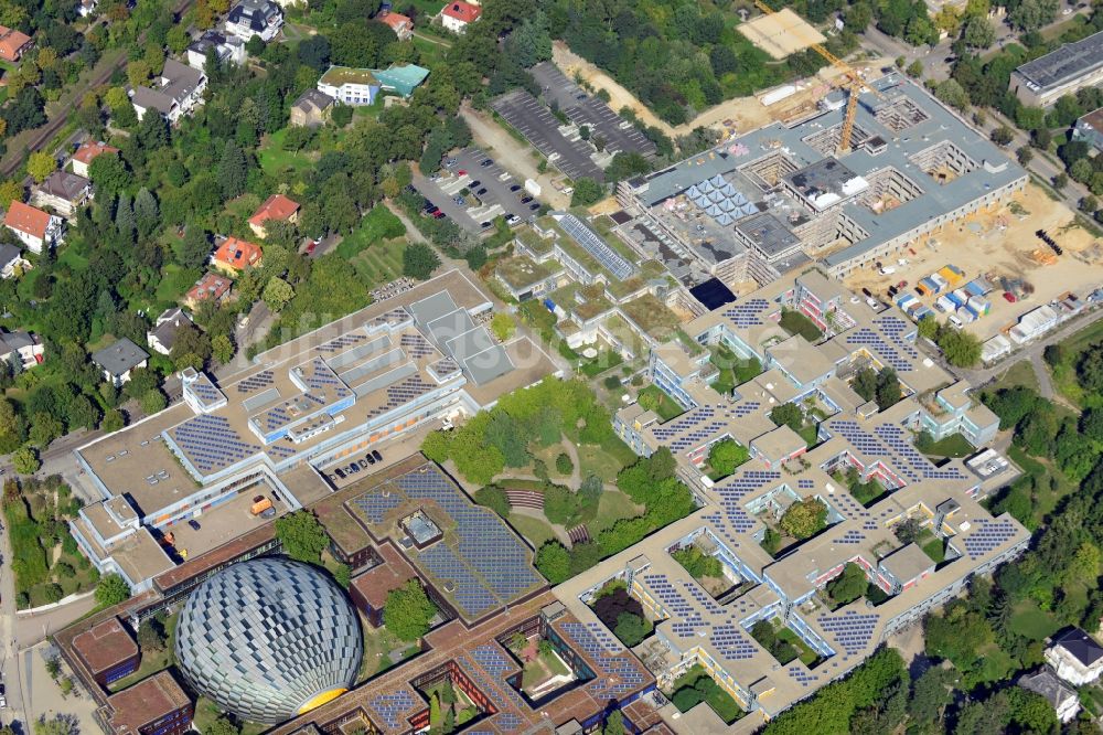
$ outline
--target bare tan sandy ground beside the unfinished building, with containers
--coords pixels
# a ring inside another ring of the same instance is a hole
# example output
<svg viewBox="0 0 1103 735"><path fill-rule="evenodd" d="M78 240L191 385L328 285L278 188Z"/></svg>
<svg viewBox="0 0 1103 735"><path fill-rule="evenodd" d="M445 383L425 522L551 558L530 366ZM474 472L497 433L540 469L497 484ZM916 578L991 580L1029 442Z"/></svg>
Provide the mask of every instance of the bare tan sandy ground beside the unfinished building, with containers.
<svg viewBox="0 0 1103 735"><path fill-rule="evenodd" d="M918 297L914 287L919 279L947 263L964 270L966 279L988 275L996 287L986 297L992 302L992 311L966 326L982 340L1006 331L1022 313L1068 291L1082 298L1103 284L1103 242L1072 224L1073 214L1067 206L1049 199L1034 184L1028 184L1011 202L1014 204L1005 203L993 211L973 214L933 233L933 244L912 246L914 255L906 251L886 258L884 264L896 268L889 276L870 267L852 274L845 284L855 290L868 288L886 299L888 287L901 280L907 280L908 292ZM1040 265L1030 256L1039 248L1042 253L1050 252L1035 235L1038 230L1049 232L1064 249L1064 255L1053 265ZM897 258L907 258L908 265L897 265ZM1021 278L1034 286L1035 292L1025 300L1009 303L1002 296L1000 276ZM935 298L921 300L932 306ZM944 318L944 315L939 313L939 317Z"/></svg>

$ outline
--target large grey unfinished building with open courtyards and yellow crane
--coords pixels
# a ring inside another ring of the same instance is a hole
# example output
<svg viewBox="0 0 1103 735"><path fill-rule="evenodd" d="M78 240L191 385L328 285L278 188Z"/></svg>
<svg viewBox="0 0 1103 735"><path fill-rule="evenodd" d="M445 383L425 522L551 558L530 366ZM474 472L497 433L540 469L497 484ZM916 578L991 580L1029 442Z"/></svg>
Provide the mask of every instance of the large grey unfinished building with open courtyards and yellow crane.
<svg viewBox="0 0 1103 735"><path fill-rule="evenodd" d="M690 254L700 279L765 284L810 260L843 278L1026 187L1021 167L921 87L898 74L869 86L845 149L845 108L825 105L621 182L634 217L621 234L657 243L651 257Z"/></svg>

